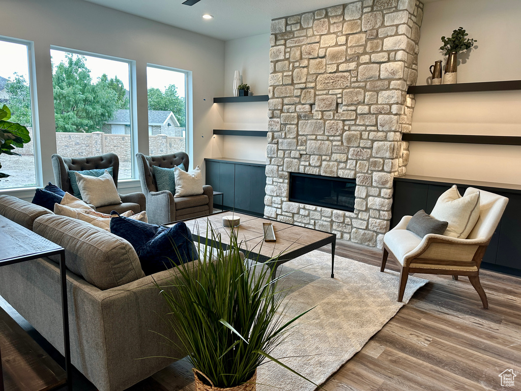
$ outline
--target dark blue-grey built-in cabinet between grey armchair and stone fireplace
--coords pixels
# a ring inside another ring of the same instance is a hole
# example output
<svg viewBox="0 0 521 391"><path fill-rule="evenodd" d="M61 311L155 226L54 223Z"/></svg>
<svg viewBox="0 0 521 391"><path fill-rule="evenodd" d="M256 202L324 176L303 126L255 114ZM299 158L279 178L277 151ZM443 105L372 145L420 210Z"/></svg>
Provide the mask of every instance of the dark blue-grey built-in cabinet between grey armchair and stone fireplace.
<svg viewBox="0 0 521 391"><path fill-rule="evenodd" d="M232 158L206 158L206 183L223 193L225 210L264 215L266 164ZM214 205L220 205L215 202Z"/></svg>

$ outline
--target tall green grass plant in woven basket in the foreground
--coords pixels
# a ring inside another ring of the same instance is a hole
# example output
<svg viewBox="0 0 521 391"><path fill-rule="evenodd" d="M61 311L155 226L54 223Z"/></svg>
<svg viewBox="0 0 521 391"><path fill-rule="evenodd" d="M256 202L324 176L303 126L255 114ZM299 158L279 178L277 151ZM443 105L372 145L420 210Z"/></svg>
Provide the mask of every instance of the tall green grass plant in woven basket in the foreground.
<svg viewBox="0 0 521 391"><path fill-rule="evenodd" d="M247 260L250 254L241 252L234 230L227 251L214 231L209 237L216 247L208 246L210 240L199 243L202 259L176 265L166 285L156 283L170 309L166 320L182 341L176 347L193 366L196 391L255 390L256 370L265 359L306 378L271 354L311 309L283 321L281 277L272 278L268 264Z"/></svg>

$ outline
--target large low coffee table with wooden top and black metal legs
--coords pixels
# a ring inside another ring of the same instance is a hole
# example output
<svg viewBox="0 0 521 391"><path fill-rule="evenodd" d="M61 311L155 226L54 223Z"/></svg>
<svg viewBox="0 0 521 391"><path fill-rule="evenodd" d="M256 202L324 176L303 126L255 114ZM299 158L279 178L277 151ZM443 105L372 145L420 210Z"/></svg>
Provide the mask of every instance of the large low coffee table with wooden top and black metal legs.
<svg viewBox="0 0 521 391"><path fill-rule="evenodd" d="M182 221L187 225L190 231L192 231L194 241L201 240L201 242L206 238L209 224L214 234L220 234L223 248L226 249L230 243L231 228L222 226L222 217L231 215L241 218L240 226L234 229L237 232L241 250L249 253L250 259L253 258L259 262L267 262L278 256L277 261L271 263L275 270L274 275L279 265L297 258L297 256L304 255L330 244L331 278L334 277L334 249L337 242L337 234L234 212L219 212ZM168 223L164 224L164 226L171 227L177 223L178 222ZM273 224L276 238L275 242L264 241L263 223ZM213 246L213 243L210 245Z"/></svg>

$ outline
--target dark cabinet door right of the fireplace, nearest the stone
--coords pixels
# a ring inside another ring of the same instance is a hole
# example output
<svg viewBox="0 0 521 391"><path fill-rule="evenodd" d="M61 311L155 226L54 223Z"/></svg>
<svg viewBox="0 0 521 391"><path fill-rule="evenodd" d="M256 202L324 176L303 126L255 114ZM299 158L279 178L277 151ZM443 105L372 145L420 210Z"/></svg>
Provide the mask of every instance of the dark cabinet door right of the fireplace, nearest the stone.
<svg viewBox="0 0 521 391"><path fill-rule="evenodd" d="M395 227L403 216L425 210L429 185L416 182L394 182L391 227Z"/></svg>

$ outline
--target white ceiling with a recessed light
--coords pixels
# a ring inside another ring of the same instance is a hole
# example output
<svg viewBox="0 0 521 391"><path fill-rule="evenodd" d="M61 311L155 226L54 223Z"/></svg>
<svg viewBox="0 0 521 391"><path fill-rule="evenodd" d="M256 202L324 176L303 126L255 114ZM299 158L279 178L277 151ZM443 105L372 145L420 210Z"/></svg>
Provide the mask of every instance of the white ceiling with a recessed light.
<svg viewBox="0 0 521 391"><path fill-rule="evenodd" d="M220 40L267 34L271 19L356 0L85 0ZM214 18L204 20L204 14Z"/></svg>

